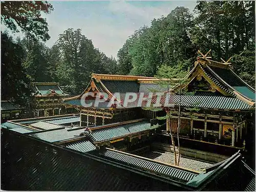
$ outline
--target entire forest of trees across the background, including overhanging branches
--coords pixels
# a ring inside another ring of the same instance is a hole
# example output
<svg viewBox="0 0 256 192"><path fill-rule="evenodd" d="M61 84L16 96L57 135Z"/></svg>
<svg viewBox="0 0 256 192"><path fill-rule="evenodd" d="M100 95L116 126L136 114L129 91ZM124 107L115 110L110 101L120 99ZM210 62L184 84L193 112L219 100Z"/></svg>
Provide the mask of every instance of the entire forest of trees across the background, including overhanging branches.
<svg viewBox="0 0 256 192"><path fill-rule="evenodd" d="M194 65L197 50L206 53L209 49L217 61L232 56L234 71L255 86L254 1L197 2L194 14L177 7L131 34L118 51L117 61L95 48L80 29L63 31L47 47L48 24L41 12L54 11L47 2L1 4L1 23L26 34L13 39L1 31L2 100L26 102L31 82L59 82L68 92L80 94L91 73L154 76L166 66L187 71Z"/></svg>

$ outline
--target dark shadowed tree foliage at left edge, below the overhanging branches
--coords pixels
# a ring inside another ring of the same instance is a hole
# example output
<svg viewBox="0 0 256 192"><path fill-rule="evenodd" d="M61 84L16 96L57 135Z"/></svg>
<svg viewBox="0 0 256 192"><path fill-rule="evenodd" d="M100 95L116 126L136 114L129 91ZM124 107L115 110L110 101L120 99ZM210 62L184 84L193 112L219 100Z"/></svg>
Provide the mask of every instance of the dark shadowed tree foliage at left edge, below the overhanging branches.
<svg viewBox="0 0 256 192"><path fill-rule="evenodd" d="M22 47L1 32L1 99L26 105L30 99L29 78L22 67Z"/></svg>

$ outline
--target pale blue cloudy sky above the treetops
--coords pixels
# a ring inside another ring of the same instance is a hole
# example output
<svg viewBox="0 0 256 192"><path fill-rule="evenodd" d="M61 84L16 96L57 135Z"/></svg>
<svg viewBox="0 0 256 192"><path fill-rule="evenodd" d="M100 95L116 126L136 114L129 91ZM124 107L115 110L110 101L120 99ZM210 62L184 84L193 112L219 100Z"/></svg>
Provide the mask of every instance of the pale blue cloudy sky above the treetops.
<svg viewBox="0 0 256 192"><path fill-rule="evenodd" d="M196 1L49 1L54 11L43 16L49 25L51 47L58 35L68 28L81 29L92 39L95 48L108 57L117 52L126 39L140 27L151 25L151 20L167 16L177 6L193 12Z"/></svg>

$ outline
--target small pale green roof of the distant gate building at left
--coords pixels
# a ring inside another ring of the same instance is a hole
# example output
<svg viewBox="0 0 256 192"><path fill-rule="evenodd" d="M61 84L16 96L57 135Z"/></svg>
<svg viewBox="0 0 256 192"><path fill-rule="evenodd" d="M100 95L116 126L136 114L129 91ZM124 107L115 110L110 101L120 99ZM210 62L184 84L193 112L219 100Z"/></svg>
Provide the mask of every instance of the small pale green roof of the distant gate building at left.
<svg viewBox="0 0 256 192"><path fill-rule="evenodd" d="M57 82L33 82L32 89L35 96L68 96L69 94L62 91Z"/></svg>

